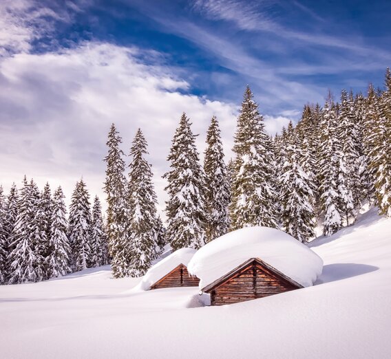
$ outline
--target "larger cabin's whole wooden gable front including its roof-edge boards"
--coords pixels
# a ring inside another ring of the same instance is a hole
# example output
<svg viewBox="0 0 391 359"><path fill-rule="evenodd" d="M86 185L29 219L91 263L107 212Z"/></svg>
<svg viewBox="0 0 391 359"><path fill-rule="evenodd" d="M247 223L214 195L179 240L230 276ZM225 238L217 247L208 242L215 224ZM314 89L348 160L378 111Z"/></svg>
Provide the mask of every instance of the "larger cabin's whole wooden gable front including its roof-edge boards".
<svg viewBox="0 0 391 359"><path fill-rule="evenodd" d="M299 288L302 288L302 285L271 265L258 258L252 258L204 287L202 292L211 294L211 305L224 305L250 301Z"/></svg>

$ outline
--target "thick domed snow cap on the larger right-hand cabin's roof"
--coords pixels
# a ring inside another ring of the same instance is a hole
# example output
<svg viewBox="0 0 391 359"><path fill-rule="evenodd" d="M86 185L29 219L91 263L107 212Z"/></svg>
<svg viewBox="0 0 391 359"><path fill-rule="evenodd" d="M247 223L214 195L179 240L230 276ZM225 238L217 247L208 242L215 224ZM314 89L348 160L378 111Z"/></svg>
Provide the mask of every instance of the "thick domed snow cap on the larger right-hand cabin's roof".
<svg viewBox="0 0 391 359"><path fill-rule="evenodd" d="M198 276L200 289L251 258L259 258L303 287L313 285L322 259L282 230L247 227L229 232L200 248L187 265Z"/></svg>

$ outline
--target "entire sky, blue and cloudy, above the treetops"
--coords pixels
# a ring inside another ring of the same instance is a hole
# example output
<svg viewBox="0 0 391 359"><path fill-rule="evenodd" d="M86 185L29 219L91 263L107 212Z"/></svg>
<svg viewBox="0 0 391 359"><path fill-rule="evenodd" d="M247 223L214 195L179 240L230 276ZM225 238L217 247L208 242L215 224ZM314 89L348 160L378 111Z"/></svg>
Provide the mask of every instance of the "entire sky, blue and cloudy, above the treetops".
<svg viewBox="0 0 391 359"><path fill-rule="evenodd" d="M105 138L127 153L149 141L160 208L166 157L182 111L199 133L211 116L231 155L249 84L269 133L328 89L383 86L390 1L0 1L0 182L24 174L62 184L83 175L103 196Z"/></svg>

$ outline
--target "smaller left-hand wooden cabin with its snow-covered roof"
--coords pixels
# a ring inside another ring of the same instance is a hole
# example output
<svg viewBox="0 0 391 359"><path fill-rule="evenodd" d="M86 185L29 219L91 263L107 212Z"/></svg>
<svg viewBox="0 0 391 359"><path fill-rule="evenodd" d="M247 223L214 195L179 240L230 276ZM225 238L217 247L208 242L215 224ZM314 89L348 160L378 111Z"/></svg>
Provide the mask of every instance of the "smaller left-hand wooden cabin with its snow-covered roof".
<svg viewBox="0 0 391 359"><path fill-rule="evenodd" d="M187 264L195 252L193 248L182 248L153 265L142 278L142 289L197 287L200 279L187 271Z"/></svg>

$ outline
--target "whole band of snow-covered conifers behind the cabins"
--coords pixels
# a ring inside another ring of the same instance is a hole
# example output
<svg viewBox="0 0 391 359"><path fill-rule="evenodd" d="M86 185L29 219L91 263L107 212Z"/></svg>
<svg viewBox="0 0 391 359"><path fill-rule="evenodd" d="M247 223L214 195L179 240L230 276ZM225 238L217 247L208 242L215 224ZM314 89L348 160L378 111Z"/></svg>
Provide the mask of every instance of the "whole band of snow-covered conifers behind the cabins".
<svg viewBox="0 0 391 359"><path fill-rule="evenodd" d="M107 263L116 278L142 276L165 246L198 249L247 226L280 228L308 243L319 226L330 236L354 224L363 203L391 217L389 68L383 88L328 94L322 104L304 105L297 123L274 136L253 98L246 87L229 159L219 118L206 129L203 163L191 113L178 119L164 175L165 221L142 129L125 155L114 123L104 158L105 215L83 179L69 208L61 187L40 189L26 177L9 193L0 186L0 283L43 281Z"/></svg>

